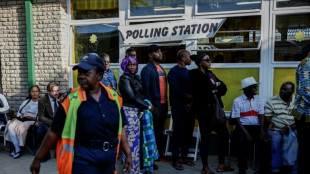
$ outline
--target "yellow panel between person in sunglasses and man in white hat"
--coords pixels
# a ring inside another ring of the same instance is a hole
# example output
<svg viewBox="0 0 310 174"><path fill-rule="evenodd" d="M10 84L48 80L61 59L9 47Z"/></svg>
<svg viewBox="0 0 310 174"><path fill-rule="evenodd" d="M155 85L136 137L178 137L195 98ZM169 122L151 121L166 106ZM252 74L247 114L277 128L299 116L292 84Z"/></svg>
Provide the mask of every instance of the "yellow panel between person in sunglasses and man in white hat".
<svg viewBox="0 0 310 174"><path fill-rule="evenodd" d="M253 76L259 79L259 69L213 69L212 72L227 86L226 95L222 97L225 111L231 111L234 99L242 94L241 80Z"/></svg>

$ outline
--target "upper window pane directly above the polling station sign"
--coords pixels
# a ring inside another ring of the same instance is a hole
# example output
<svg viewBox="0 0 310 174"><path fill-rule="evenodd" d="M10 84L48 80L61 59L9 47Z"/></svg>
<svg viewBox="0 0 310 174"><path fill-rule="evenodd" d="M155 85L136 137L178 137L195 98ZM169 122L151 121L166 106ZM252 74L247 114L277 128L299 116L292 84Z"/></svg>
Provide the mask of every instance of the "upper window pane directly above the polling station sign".
<svg viewBox="0 0 310 174"><path fill-rule="evenodd" d="M130 16L183 14L184 0L130 0Z"/></svg>

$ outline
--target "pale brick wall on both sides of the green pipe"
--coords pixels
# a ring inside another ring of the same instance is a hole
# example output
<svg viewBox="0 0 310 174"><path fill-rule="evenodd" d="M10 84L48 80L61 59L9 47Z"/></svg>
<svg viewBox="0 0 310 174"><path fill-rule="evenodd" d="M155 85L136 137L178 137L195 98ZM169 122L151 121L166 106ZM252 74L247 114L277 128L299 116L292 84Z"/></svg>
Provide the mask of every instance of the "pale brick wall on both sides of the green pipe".
<svg viewBox="0 0 310 174"><path fill-rule="evenodd" d="M68 25L65 0L33 0L35 79L46 93L50 81L68 86ZM1 88L16 111L28 96L25 1L0 1Z"/></svg>

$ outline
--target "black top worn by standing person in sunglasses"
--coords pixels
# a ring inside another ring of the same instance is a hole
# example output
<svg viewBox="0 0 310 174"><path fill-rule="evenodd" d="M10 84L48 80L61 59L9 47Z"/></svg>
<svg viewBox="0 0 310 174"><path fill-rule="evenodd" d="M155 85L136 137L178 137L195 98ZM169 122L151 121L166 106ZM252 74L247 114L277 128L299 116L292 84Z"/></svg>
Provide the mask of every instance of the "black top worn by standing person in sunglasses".
<svg viewBox="0 0 310 174"><path fill-rule="evenodd" d="M208 70L206 74L199 69L193 69L189 71L189 78L192 85L192 92L194 96L194 109L205 108L208 104L214 104L214 94L212 90L217 89L217 98L219 99L221 107L223 102L221 96L226 94L227 88L224 82L218 79L212 71ZM216 86L210 79L214 79L215 82L220 82L219 86Z"/></svg>

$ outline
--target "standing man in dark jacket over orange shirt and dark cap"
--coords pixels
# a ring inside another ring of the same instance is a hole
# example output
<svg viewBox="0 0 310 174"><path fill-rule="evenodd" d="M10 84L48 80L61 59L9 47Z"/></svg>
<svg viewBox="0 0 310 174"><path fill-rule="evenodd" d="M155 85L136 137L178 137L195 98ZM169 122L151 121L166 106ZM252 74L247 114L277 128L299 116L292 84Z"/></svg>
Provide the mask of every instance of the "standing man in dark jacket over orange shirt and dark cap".
<svg viewBox="0 0 310 174"><path fill-rule="evenodd" d="M167 80L164 69L159 65L162 53L157 45L148 48L149 63L141 71L145 97L154 106L154 132L160 159L164 156L164 124L168 113Z"/></svg>

